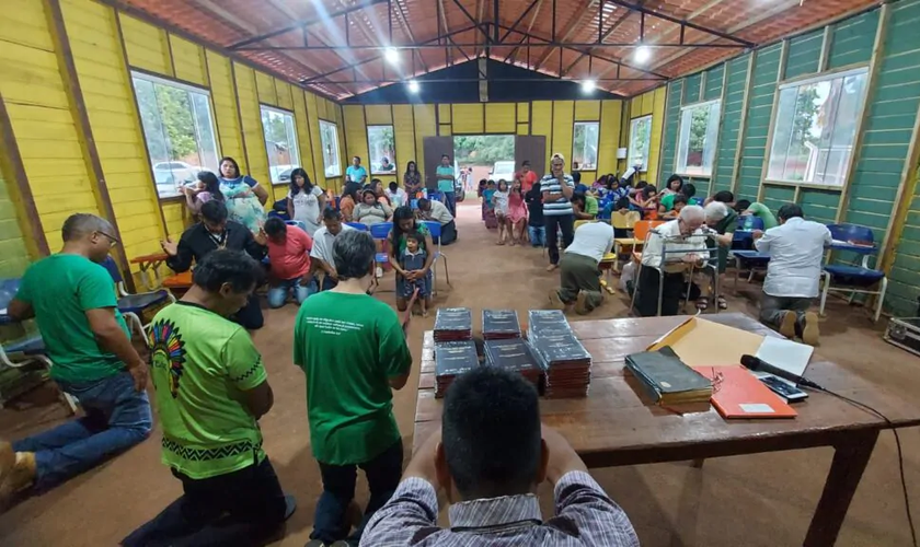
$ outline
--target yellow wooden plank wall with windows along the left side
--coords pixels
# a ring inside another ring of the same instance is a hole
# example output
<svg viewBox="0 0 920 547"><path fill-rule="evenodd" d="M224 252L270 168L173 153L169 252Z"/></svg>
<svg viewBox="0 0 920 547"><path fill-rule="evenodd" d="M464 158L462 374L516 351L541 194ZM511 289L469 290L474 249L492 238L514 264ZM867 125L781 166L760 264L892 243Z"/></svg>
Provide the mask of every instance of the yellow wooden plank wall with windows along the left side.
<svg viewBox="0 0 920 547"><path fill-rule="evenodd" d="M56 25L65 32L56 32ZM76 82L67 69L71 62ZM292 112L301 165L320 186L341 190L341 177L325 177L319 144L319 120L335 123L344 173L344 124L336 103L106 4L8 0L0 11L0 96L53 252L61 245L60 225L68 216L106 216L107 201L129 258L158 251L164 235L179 236L188 222L182 201L157 196L131 70L208 90L219 154L237 159L266 187L260 104ZM80 105L92 139L81 130ZM104 184L95 179L93 154ZM269 195L279 199L286 193L279 185Z"/></svg>

